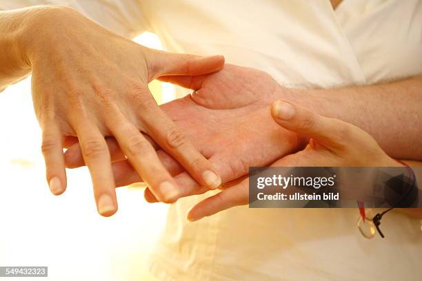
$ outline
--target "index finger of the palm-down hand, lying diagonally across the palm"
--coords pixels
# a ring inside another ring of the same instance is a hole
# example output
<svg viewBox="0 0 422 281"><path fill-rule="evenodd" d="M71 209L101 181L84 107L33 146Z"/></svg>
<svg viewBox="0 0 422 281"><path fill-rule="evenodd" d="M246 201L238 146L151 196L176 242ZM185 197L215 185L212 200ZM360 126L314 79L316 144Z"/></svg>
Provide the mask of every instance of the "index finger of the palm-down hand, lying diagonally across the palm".
<svg viewBox="0 0 422 281"><path fill-rule="evenodd" d="M143 122L148 135L177 160L200 185L209 189L216 189L221 185L221 178L210 161L199 153L185 133L162 110L152 109L143 117Z"/></svg>

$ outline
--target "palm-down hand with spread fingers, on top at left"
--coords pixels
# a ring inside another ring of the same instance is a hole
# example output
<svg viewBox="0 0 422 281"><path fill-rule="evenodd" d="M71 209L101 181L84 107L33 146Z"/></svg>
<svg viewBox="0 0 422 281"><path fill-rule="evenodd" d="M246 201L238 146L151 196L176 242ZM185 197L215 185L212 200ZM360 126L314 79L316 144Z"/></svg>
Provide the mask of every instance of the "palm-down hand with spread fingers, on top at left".
<svg viewBox="0 0 422 281"><path fill-rule="evenodd" d="M200 75L223 67L222 56L171 54L145 48L69 8L41 8L23 39L32 67L34 109L43 131L43 155L53 194L66 189L64 136L77 136L90 169L97 208L117 211L105 136L114 136L137 174L159 200L179 197L177 183L141 132L174 157L200 185L221 178L154 101L148 83L163 75Z"/></svg>

